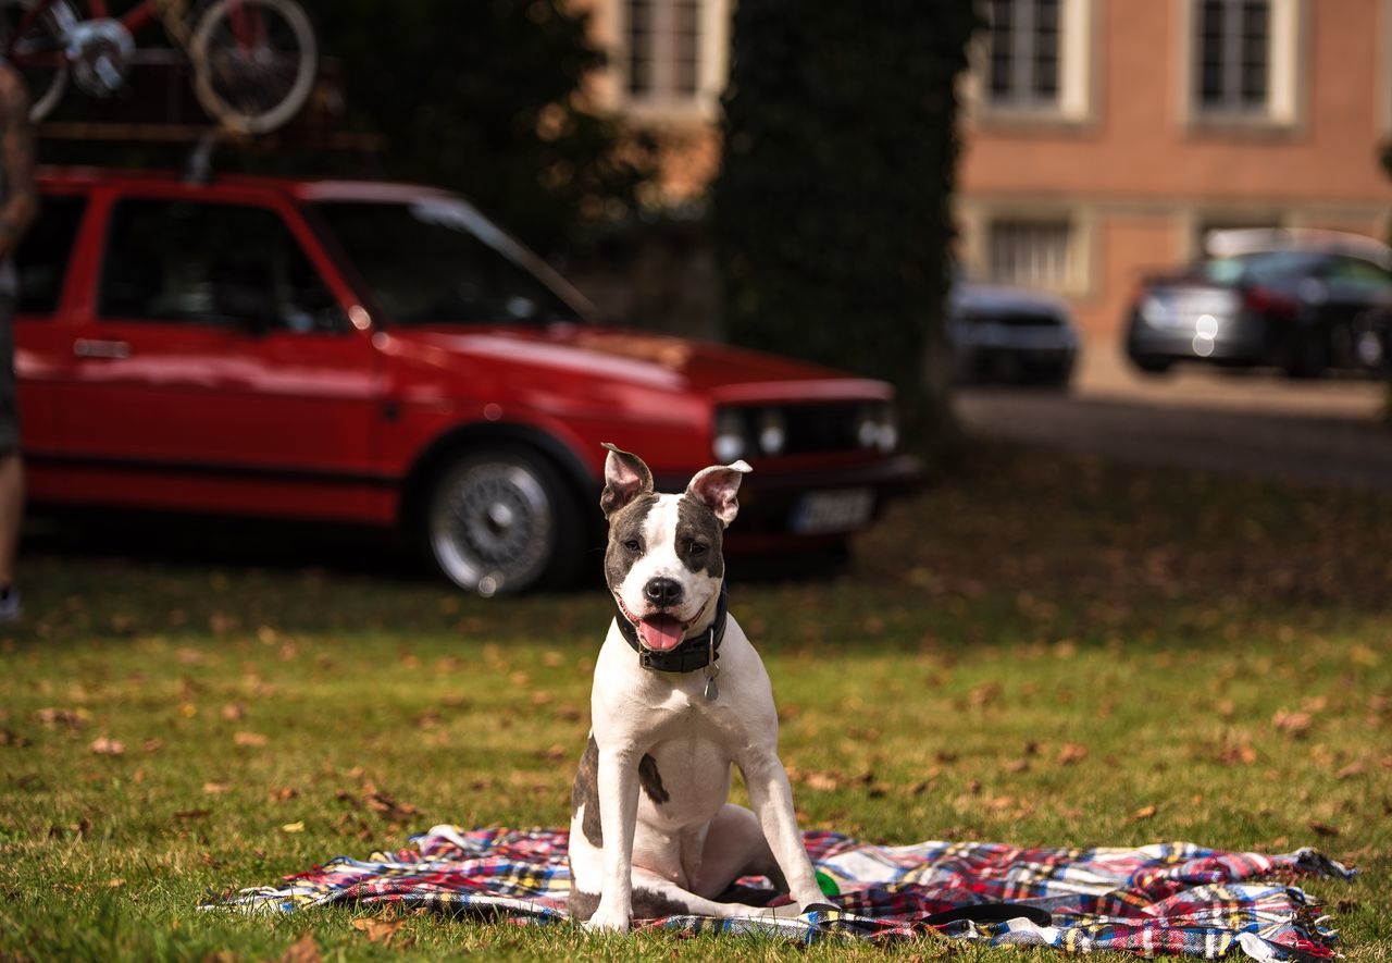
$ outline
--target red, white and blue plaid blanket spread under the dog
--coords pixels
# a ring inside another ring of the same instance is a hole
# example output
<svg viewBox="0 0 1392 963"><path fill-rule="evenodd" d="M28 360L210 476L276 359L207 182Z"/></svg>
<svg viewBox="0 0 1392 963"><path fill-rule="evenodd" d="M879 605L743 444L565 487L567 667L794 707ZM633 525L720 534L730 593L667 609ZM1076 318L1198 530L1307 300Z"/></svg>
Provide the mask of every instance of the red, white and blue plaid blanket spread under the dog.
<svg viewBox="0 0 1392 963"><path fill-rule="evenodd" d="M440 825L412 838L413 850L338 857L284 886L244 889L216 906L292 911L327 903L398 903L503 916L519 923L567 920L571 878L565 829L461 829ZM807 853L832 877L837 909L800 917L671 916L636 928L912 939L928 934L987 945L1057 946L1069 952L1129 950L1208 959L1235 946L1257 960L1327 959L1335 931L1295 877L1349 879L1353 871L1300 849L1283 856L1225 853L1193 843L1139 849L1018 849L1001 843L924 842L876 846L834 832L805 833ZM767 886L760 878L741 885ZM990 902L1022 902L1052 916L956 921L930 928L922 917Z"/></svg>

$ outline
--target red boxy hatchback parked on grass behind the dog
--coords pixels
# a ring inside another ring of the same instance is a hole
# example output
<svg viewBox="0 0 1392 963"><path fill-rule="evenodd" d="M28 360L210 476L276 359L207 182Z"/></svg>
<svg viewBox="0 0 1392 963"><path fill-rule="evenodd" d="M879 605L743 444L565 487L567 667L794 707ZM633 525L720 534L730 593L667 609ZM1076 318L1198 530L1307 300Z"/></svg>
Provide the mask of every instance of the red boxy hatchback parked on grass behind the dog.
<svg viewBox="0 0 1392 963"><path fill-rule="evenodd" d="M601 442L754 465L729 549L866 527L916 463L891 389L590 321L452 194L50 170L17 255L35 503L404 525L490 595L599 545Z"/></svg>

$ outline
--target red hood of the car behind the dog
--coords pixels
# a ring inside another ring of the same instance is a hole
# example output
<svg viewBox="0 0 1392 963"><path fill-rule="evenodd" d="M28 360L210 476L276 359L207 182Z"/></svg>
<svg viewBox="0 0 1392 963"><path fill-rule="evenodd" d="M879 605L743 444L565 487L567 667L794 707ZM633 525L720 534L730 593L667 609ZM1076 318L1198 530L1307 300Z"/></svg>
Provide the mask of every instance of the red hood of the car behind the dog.
<svg viewBox="0 0 1392 963"><path fill-rule="evenodd" d="M725 344L622 328L550 326L394 328L388 353L476 379L480 372L530 372L590 389L624 385L714 401L887 399L884 382ZM464 372L468 369L468 375Z"/></svg>

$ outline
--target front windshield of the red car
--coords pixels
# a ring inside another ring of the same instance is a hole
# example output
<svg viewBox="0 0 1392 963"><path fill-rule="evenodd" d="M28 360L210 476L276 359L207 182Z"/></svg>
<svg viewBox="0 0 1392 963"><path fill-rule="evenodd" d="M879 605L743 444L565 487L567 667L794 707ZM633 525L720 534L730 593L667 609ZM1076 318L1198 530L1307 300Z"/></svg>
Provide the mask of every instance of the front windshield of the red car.
<svg viewBox="0 0 1392 963"><path fill-rule="evenodd" d="M400 325L548 323L580 312L533 254L458 198L324 201L315 209Z"/></svg>

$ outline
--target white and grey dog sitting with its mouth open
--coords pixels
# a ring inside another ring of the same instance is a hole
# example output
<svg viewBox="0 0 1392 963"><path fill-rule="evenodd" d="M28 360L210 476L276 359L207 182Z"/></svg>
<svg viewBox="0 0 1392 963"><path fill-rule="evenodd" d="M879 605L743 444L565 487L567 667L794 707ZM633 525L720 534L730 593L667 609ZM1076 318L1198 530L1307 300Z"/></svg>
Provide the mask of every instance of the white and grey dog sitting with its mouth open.
<svg viewBox="0 0 1392 963"><path fill-rule="evenodd" d="M778 758L764 665L725 609L721 539L743 461L653 491L642 459L606 445L604 576L618 613L594 665L592 727L571 796L572 918L757 916L824 906ZM728 801L739 766L753 811ZM717 902L743 875L791 895L775 910Z"/></svg>

